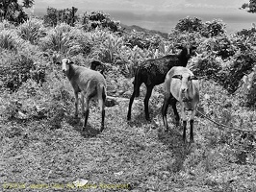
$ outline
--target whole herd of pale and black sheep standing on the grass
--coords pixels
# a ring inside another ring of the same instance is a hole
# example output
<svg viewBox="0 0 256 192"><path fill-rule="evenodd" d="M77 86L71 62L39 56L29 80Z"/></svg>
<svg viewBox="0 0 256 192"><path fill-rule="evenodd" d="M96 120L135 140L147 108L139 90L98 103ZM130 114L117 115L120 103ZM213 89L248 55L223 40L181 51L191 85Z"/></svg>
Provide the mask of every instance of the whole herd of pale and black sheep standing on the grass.
<svg viewBox="0 0 256 192"><path fill-rule="evenodd" d="M137 68L134 80L134 90L130 98L127 120L131 119L131 110L135 97L140 96L140 86L146 85L146 95L144 98L145 119L150 120L148 112L148 102L155 85L165 83L165 100L162 108L162 116L166 131L168 125L166 120L166 111L168 105L171 105L174 111L176 125L179 125L180 117L176 108L176 103L181 106L181 118L183 121L183 140L186 141L186 113L185 110L192 110L191 113L191 142L193 141L193 118L196 106L199 102L199 83L192 71L186 68L188 60L195 55L194 46L179 46L181 52L177 55L167 55L163 58L145 60ZM75 95L75 116L78 114L78 93L81 92L82 114L85 116L83 131L85 131L89 117L90 99L97 98L101 109L102 121L101 129L104 130L105 119L105 100L107 97L107 84L103 71L95 71L96 67L101 65L100 61L93 60L90 69L78 66L72 60L63 59L62 69L74 89ZM84 105L86 100L86 105ZM86 110L85 110L86 108Z"/></svg>

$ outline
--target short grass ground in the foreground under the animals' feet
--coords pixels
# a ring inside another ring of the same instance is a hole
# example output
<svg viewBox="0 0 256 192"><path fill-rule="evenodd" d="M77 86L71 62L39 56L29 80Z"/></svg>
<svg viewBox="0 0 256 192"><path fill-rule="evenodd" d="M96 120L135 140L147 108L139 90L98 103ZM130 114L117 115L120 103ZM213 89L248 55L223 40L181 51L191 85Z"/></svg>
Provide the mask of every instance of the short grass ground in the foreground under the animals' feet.
<svg viewBox="0 0 256 192"><path fill-rule="evenodd" d="M64 84L68 85L67 82ZM203 94L204 91L207 88L203 88ZM255 151L250 153L251 156L254 153L250 163L237 163L236 154L239 152L234 152L234 146L228 143L228 139L221 143L221 135L225 136L226 132L219 131L215 125L199 117L195 121L195 143L184 145L179 129L172 126L170 132L164 132L157 99L161 103L163 98L153 95L150 104L152 123L144 120L142 98L135 101L131 122L126 121L128 99L121 100L113 108L106 108L106 129L101 133L98 132L99 108L93 104L87 132L81 131L82 120L73 118L71 103L66 106L59 129L51 127L49 124L52 122L48 119L5 121L2 118L2 190L255 189ZM73 182L81 179L87 180L87 184L84 188L75 187Z"/></svg>

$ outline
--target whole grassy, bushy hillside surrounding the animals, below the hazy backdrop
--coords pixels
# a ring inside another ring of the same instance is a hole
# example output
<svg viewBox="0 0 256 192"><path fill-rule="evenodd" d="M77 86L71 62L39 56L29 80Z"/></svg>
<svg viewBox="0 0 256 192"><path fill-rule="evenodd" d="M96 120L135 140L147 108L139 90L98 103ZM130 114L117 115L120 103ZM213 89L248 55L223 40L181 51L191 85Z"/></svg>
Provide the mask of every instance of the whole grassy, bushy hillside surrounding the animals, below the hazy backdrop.
<svg viewBox="0 0 256 192"><path fill-rule="evenodd" d="M0 191L255 191L254 31L213 36L210 28L165 39L42 22L0 22ZM182 122L175 126L170 107L165 132L163 84L149 100L151 121L144 117L144 84L127 121L138 65L179 54L177 43L197 52L187 66L199 79L203 113L195 116L193 143L188 127L183 142ZM85 132L81 102L74 117L64 58L86 67L103 62L113 101L103 132L97 102L90 102Z"/></svg>

